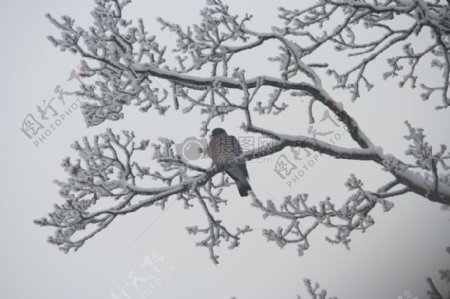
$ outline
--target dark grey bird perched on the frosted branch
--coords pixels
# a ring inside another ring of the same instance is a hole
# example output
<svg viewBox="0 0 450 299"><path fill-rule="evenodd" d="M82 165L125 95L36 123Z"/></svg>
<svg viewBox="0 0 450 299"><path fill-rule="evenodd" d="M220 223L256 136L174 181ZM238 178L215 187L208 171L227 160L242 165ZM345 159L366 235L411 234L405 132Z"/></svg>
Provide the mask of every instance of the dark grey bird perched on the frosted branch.
<svg viewBox="0 0 450 299"><path fill-rule="evenodd" d="M225 172L236 182L236 186L241 196L247 196L252 190L248 182L248 171L245 161L234 161L234 158L242 153L241 145L234 136L230 136L222 128L212 130L209 141L209 156L218 167L222 167Z"/></svg>

